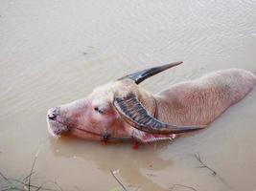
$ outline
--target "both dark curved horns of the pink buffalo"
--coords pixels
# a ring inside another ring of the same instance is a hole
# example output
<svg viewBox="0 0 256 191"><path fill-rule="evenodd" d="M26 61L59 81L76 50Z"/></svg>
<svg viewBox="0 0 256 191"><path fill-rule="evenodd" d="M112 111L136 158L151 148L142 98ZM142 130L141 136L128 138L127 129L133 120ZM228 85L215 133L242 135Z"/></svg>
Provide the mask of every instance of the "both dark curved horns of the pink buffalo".
<svg viewBox="0 0 256 191"><path fill-rule="evenodd" d="M118 80L128 78L133 80L136 84L139 84L148 77L175 67L181 63L182 62L174 62L171 64L146 69L134 74L128 74L119 78ZM161 122L158 119L151 117L151 115L139 101L138 97L132 93L125 97L115 97L114 106L120 116L123 117L128 122L128 124L141 131L145 131L151 134L180 134L201 129L201 127L198 126L175 126Z"/></svg>

